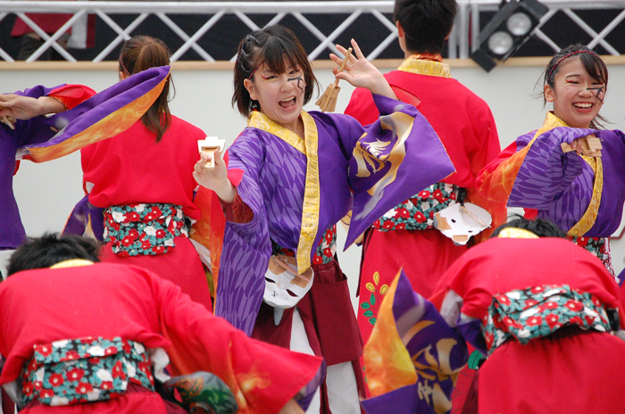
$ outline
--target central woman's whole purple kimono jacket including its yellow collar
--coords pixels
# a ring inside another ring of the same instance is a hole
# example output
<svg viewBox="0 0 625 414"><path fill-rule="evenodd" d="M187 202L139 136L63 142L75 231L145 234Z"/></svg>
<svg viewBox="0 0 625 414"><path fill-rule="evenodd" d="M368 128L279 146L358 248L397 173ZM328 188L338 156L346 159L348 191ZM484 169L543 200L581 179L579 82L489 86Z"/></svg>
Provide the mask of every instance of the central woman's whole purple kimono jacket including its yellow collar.
<svg viewBox="0 0 625 414"><path fill-rule="evenodd" d="M215 314L251 335L271 240L296 251L300 272L324 231L352 217L346 245L386 211L454 172L434 129L412 105L374 95L380 119L302 112L305 137L254 112L229 147L237 194L254 212L227 222Z"/></svg>

